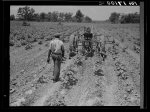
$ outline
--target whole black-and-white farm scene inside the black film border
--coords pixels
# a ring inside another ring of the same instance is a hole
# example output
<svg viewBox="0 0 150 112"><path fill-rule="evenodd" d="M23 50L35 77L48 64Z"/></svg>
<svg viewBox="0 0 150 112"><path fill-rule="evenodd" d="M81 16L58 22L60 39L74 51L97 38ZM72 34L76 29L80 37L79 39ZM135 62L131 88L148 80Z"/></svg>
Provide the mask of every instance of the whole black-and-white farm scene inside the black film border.
<svg viewBox="0 0 150 112"><path fill-rule="evenodd" d="M10 107L140 107L140 5L111 4L10 5Z"/></svg>

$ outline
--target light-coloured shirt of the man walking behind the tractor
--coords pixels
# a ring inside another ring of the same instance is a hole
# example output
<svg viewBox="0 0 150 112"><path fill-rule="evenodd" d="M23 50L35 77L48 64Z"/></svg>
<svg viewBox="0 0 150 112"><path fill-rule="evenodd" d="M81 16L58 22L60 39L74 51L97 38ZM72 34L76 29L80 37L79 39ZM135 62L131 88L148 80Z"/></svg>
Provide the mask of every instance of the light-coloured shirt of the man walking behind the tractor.
<svg viewBox="0 0 150 112"><path fill-rule="evenodd" d="M52 51L52 53L62 53L64 51L63 42L55 38L50 42L50 50Z"/></svg>

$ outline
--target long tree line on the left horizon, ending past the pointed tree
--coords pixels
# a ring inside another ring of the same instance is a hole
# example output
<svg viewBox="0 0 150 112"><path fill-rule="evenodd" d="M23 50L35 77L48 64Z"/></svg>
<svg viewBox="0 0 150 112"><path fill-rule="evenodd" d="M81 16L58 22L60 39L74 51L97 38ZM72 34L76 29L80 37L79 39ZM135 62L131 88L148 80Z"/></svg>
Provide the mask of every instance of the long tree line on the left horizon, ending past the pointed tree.
<svg viewBox="0 0 150 112"><path fill-rule="evenodd" d="M41 12L35 13L33 8L29 6L20 7L17 11L17 17L10 15L10 20L24 21L49 21L49 22L92 22L92 19L84 15L80 10L77 10L75 16L70 12Z"/></svg>

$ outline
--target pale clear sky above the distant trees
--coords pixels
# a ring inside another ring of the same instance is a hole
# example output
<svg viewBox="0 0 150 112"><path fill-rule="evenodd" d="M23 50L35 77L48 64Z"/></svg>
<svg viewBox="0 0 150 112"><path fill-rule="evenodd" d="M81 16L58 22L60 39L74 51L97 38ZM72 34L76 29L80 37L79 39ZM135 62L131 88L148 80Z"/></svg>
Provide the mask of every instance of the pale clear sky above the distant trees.
<svg viewBox="0 0 150 112"><path fill-rule="evenodd" d="M17 15L19 7L24 6L10 6L10 15ZM85 16L89 16L92 20L106 20L112 12L117 13L135 13L140 12L140 6L30 6L36 13L41 12L71 12L75 15L77 10Z"/></svg>

